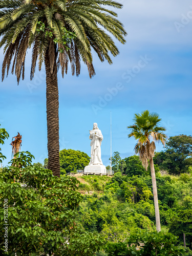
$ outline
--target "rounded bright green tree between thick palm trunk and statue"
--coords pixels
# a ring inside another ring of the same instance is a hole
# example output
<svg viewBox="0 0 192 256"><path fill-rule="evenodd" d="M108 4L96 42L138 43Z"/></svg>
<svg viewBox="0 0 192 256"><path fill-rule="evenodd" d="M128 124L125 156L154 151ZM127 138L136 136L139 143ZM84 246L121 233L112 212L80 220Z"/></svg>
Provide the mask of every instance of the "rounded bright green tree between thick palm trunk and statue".
<svg viewBox="0 0 192 256"><path fill-rule="evenodd" d="M79 150L65 149L61 150L59 155L61 170L66 173L75 173L77 170L82 170L90 162L90 157Z"/></svg>

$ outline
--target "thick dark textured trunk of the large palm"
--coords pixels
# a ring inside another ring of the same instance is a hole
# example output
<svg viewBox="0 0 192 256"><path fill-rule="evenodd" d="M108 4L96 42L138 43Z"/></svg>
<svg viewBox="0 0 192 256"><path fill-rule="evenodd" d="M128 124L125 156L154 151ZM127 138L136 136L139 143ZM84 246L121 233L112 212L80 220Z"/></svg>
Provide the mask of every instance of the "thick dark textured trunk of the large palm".
<svg viewBox="0 0 192 256"><path fill-rule="evenodd" d="M46 66L46 107L47 107L47 139L48 139L48 169L53 175L60 177L59 164L59 94L57 83L56 60L51 74L49 52L45 56Z"/></svg>

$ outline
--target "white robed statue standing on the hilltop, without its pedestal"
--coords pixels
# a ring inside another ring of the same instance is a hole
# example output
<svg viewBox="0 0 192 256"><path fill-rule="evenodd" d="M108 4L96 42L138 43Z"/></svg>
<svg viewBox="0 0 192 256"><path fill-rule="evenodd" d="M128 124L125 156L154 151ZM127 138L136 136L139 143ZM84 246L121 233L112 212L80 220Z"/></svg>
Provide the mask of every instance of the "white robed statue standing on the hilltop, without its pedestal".
<svg viewBox="0 0 192 256"><path fill-rule="evenodd" d="M90 131L89 138L91 140L91 160L89 165L103 164L101 160L101 141L103 140L103 136L97 123L93 124L93 130Z"/></svg>

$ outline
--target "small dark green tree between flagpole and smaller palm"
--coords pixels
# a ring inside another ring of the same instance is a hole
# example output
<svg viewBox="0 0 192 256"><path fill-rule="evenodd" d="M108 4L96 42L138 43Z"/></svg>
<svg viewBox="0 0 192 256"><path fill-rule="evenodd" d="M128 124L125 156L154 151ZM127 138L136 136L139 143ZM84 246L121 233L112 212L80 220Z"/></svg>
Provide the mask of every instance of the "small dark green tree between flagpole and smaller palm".
<svg viewBox="0 0 192 256"><path fill-rule="evenodd" d="M126 167L124 168L124 173L128 176L133 175L145 175L146 171L142 165L139 156L131 156L124 159Z"/></svg>

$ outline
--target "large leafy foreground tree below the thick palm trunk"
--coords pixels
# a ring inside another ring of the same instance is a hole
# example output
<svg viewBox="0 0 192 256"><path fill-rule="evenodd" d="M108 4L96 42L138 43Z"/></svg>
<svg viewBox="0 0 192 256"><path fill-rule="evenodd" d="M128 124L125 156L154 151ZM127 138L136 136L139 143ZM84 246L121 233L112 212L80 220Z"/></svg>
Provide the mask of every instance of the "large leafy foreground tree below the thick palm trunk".
<svg viewBox="0 0 192 256"><path fill-rule="evenodd" d="M77 179L57 178L51 170L31 165L33 156L29 152L17 153L16 157L0 173L0 228L4 230L4 222L8 222L8 255L92 256L101 249L99 234L77 225L77 207L82 200L76 191ZM4 232L0 239L5 242ZM4 253L3 246L0 252Z"/></svg>

